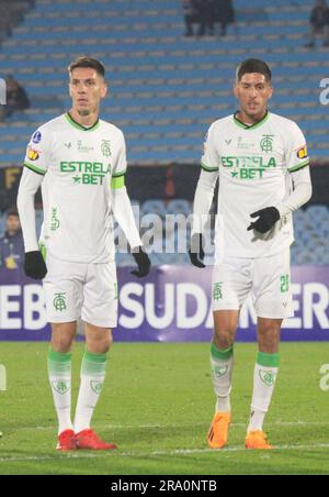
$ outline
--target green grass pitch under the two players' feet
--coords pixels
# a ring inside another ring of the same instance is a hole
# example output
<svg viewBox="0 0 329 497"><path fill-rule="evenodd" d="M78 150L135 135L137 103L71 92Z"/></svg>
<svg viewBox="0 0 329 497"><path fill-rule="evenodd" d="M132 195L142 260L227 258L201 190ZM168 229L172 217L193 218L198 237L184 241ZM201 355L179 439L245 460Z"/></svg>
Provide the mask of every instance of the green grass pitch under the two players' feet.
<svg viewBox="0 0 329 497"><path fill-rule="evenodd" d="M121 344L111 351L93 427L118 451L55 451L56 419L44 343L0 343L8 391L0 393L0 474L329 474L329 391L319 369L327 343L284 343L265 430L276 449L243 449L256 344L236 345L229 445L205 443L214 413L209 345ZM83 345L75 347L73 401Z"/></svg>

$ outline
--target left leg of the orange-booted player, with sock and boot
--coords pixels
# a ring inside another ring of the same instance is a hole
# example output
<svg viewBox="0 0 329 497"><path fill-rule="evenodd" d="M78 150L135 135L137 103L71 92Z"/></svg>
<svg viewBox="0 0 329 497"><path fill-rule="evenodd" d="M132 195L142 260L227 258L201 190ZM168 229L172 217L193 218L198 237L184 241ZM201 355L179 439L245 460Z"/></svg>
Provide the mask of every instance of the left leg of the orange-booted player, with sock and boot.
<svg viewBox="0 0 329 497"><path fill-rule="evenodd" d="M223 449L227 444L231 422L230 391L238 319L238 310L214 312L215 331L211 347L211 365L217 402L207 435L207 443L212 449Z"/></svg>

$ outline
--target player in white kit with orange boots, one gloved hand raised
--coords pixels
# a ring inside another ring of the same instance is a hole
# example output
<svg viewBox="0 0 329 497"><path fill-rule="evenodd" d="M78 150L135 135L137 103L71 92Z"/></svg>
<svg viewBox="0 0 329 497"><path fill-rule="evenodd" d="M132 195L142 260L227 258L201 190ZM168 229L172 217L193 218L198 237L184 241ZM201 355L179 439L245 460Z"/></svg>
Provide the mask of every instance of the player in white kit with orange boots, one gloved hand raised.
<svg viewBox="0 0 329 497"><path fill-rule="evenodd" d="M271 78L263 60L239 65L234 92L240 108L211 125L194 200L190 257L195 266L205 267L202 232L219 178L211 347L217 402L207 435L213 449L224 448L228 440L234 341L249 294L258 317L259 353L246 448L271 449L263 422L279 372L281 324L293 316L292 212L311 196L309 158L299 128L268 111Z"/></svg>

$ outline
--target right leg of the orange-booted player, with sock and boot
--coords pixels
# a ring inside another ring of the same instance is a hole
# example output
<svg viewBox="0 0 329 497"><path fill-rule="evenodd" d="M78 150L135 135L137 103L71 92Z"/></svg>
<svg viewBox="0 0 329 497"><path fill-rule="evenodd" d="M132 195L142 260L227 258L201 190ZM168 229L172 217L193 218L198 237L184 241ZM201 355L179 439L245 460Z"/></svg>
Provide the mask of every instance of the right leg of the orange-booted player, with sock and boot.
<svg viewBox="0 0 329 497"><path fill-rule="evenodd" d="M251 417L248 427L247 449L272 449L263 432L279 372L279 344L282 319L258 318L259 353L254 367Z"/></svg>

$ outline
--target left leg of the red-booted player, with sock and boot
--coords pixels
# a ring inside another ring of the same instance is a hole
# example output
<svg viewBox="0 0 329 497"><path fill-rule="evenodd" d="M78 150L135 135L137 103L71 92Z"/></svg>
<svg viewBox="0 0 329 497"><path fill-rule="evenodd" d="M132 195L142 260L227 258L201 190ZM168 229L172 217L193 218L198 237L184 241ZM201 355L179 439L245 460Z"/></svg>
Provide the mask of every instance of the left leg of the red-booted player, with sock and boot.
<svg viewBox="0 0 329 497"><path fill-rule="evenodd" d="M60 451L76 449L71 422L71 347L77 333L77 322L53 323L52 346L48 354L48 374L58 418Z"/></svg>

